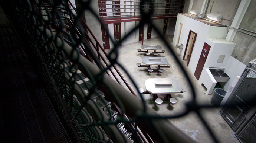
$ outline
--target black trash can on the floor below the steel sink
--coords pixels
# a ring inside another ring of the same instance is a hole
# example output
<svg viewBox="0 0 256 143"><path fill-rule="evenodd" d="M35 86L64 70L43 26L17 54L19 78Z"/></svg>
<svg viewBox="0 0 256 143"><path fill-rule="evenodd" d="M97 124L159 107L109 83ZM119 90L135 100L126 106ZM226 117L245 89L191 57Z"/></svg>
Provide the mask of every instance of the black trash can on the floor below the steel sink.
<svg viewBox="0 0 256 143"><path fill-rule="evenodd" d="M214 90L213 97L211 97L211 104L216 107L220 106L221 101L223 100L224 96L226 95L226 91L221 88L216 88Z"/></svg>

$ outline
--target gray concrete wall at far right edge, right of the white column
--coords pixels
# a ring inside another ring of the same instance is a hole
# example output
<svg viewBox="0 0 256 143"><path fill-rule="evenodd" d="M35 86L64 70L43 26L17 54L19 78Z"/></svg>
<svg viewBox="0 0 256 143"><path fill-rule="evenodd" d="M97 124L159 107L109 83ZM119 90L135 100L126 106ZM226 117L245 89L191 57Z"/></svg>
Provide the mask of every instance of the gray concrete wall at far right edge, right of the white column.
<svg viewBox="0 0 256 143"><path fill-rule="evenodd" d="M240 28L248 29L250 31L256 31L255 7L256 0L251 0L249 7L247 8L243 20L239 26ZM237 60L244 64L247 64L250 60L256 58L256 37L237 31L233 42L237 45L233 50L232 56L235 57Z"/></svg>

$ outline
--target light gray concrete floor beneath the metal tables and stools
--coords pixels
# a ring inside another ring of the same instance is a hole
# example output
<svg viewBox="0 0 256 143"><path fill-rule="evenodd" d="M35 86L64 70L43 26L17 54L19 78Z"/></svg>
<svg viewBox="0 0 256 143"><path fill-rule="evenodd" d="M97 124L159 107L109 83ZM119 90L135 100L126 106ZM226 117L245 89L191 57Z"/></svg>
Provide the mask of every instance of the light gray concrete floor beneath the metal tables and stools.
<svg viewBox="0 0 256 143"><path fill-rule="evenodd" d="M169 44L173 39L173 36L165 36L165 39ZM173 78L177 79L181 85L186 88L185 93L172 94L172 97L177 100L177 103L174 105L169 104L169 101L164 101L161 105L155 105L154 101L150 100L149 94L144 94L144 98L147 101L147 105L158 112L160 115L175 115L181 113L185 109L185 103L192 100L191 88L188 85L188 80L185 78L184 74L181 71L180 66L178 66L177 61L175 61L174 56L167 49L167 46L164 45L161 38L152 38L144 41L144 44L154 44L161 45L166 52L164 54L160 54L161 57L167 58L168 62L172 65L171 68L164 68L164 72L161 74L147 72L147 68L145 67L137 67L136 63L141 63L141 57L144 56L144 53L139 53L137 49L141 48L142 41L130 43L127 45L122 45L118 48L118 62L121 63L125 70L127 70L128 74L135 81L138 88L144 88L144 81L148 78ZM111 49L106 50L109 52ZM176 49L174 49L176 51ZM186 61L181 60L181 56L178 56L179 60L185 67L191 82L194 86L196 92L196 102L198 104L211 104L211 96L207 95L206 90L199 84L197 79L194 77L194 73L191 73L186 66ZM152 68L152 67L151 67ZM156 67L155 67L156 68ZM131 80L129 80L128 76L124 71L119 68L122 75L127 79L129 85L132 87L134 91L135 87L132 86ZM137 93L137 91L136 91ZM232 135L233 130L229 127L229 125L224 121L224 119L219 115L219 111L217 108L200 109L200 113L203 116L203 119L208 123L212 132L217 137L217 140L221 143L239 143L239 141L234 138ZM181 118L173 118L169 119L171 123L175 126L183 130L188 136L192 137L194 140L200 143L211 143L213 139L211 138L209 132L206 130L202 121L199 119L198 115L195 112L190 112L186 116L182 116Z"/></svg>

